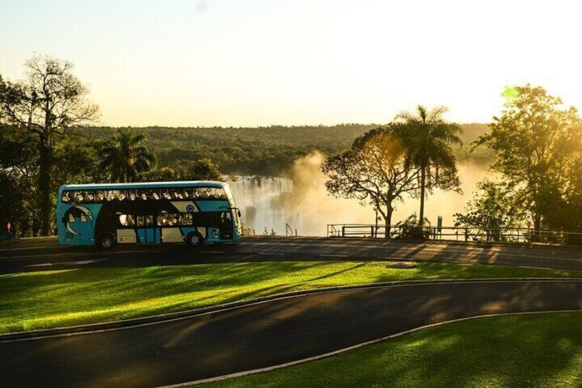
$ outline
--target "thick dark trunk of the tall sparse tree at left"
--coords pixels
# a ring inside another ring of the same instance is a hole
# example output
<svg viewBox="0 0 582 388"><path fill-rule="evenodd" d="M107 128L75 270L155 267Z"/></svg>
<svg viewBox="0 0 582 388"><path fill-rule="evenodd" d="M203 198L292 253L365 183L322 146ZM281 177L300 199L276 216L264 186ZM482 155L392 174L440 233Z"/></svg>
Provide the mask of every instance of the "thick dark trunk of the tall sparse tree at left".
<svg viewBox="0 0 582 388"><path fill-rule="evenodd" d="M53 214L51 201L52 148L49 135L40 137L38 148L38 212L40 213L40 236L49 236Z"/></svg>

